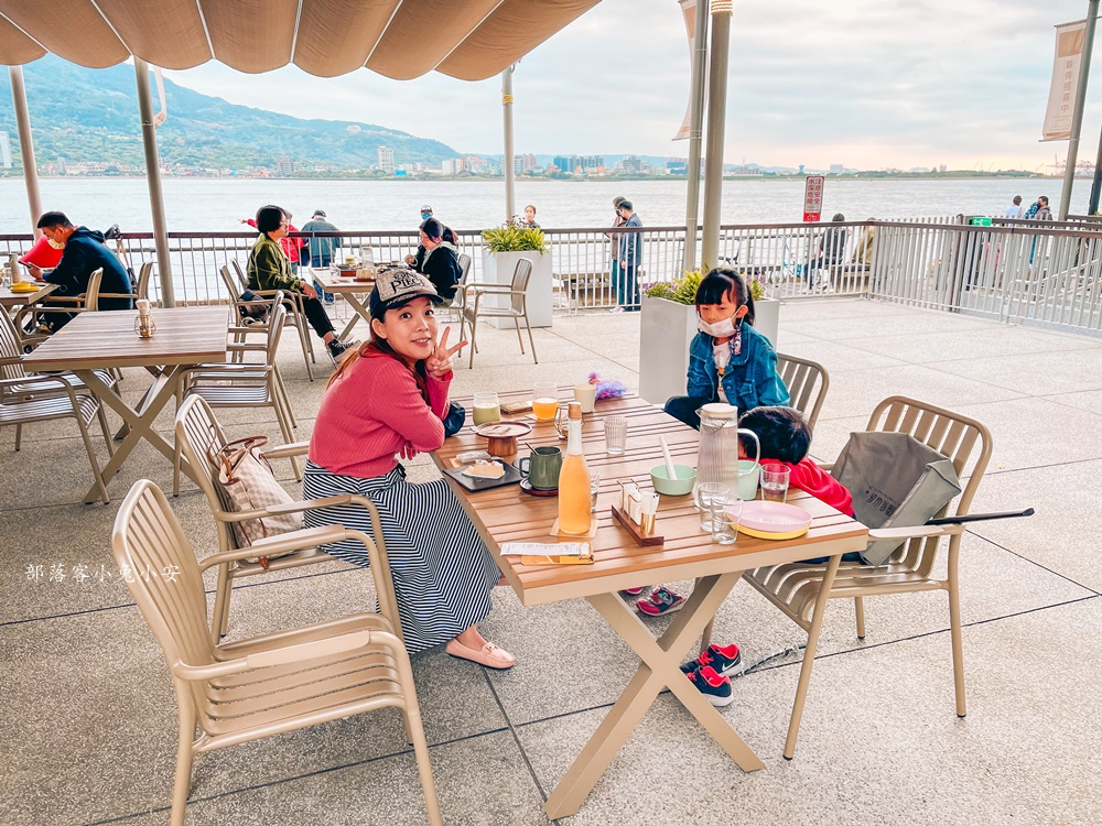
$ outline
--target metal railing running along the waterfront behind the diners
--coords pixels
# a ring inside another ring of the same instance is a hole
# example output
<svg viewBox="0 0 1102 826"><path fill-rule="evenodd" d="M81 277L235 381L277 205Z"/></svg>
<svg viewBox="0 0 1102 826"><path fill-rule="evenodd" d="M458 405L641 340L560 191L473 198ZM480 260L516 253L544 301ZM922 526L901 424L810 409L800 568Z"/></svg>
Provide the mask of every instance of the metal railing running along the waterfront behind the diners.
<svg viewBox="0 0 1102 826"><path fill-rule="evenodd" d="M719 263L759 281L768 295L789 301L869 296L1009 323L1102 332L1102 225L993 218L990 227L971 227L962 219L730 225L721 228ZM683 227L544 230L558 313L616 305L614 252L633 231L640 239L637 276L642 290L681 274ZM482 236L477 230L456 236L460 251L472 258L469 279L478 283L484 278ZM414 231L316 237L336 238L335 256L370 256L376 263L402 260L418 240ZM0 253L21 253L31 240L29 235L0 236ZM252 232L171 232L177 303L226 301L218 268L231 259L244 267L255 240ZM126 233L123 243L136 272L154 259L151 233ZM156 296L156 278L151 287Z"/></svg>

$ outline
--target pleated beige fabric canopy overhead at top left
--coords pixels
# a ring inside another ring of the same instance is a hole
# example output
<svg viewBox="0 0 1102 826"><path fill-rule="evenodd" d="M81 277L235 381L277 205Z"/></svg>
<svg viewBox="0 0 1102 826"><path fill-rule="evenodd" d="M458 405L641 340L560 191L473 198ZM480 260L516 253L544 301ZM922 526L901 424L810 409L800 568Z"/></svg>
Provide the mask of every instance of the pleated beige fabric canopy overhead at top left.
<svg viewBox="0 0 1102 826"><path fill-rule="evenodd" d="M2 0L0 64L46 52L89 68L131 55L249 74L293 63L318 77L366 67L409 80L500 74L601 0Z"/></svg>

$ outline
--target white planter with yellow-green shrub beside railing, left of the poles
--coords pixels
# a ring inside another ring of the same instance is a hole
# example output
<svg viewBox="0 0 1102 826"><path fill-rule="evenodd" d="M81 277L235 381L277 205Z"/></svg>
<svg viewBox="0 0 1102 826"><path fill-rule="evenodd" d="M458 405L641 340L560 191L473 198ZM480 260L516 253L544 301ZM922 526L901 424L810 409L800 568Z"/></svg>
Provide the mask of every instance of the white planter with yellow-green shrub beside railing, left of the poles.
<svg viewBox="0 0 1102 826"><path fill-rule="evenodd" d="M551 281L551 256L543 230L509 221L500 227L484 229L483 237L483 281L490 284L511 284L517 261L531 259L532 274L528 280L528 320L533 327L551 326L553 289ZM490 305L508 303L508 296L486 296ZM512 328L511 318L487 318L488 324L499 329Z"/></svg>

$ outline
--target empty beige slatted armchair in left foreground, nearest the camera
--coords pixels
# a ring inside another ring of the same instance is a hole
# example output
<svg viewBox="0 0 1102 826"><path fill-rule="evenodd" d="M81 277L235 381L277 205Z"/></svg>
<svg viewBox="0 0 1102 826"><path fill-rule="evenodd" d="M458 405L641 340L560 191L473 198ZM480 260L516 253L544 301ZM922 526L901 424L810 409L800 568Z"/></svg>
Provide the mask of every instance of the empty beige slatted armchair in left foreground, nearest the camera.
<svg viewBox="0 0 1102 826"><path fill-rule="evenodd" d="M371 539L339 525L288 535L303 543L364 543L371 559L380 613L359 613L239 642L215 644L206 626L203 572L253 551L218 553L196 562L164 493L137 482L115 519L111 548L127 588L164 653L176 693L179 745L170 824L183 826L196 754L294 731L365 711L398 708L413 743L429 823L443 820L409 655L390 622L393 590L376 563Z"/></svg>

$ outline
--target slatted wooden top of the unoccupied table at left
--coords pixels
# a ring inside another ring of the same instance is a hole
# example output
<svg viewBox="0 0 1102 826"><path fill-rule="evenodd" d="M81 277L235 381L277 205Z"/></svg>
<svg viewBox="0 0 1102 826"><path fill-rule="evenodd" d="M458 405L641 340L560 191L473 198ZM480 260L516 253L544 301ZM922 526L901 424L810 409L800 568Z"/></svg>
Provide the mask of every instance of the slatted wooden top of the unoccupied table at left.
<svg viewBox="0 0 1102 826"><path fill-rule="evenodd" d="M154 309L152 338L134 333L137 317L136 309L80 313L25 356L23 363L35 370L80 370L226 359L228 307Z"/></svg>

